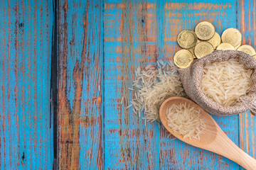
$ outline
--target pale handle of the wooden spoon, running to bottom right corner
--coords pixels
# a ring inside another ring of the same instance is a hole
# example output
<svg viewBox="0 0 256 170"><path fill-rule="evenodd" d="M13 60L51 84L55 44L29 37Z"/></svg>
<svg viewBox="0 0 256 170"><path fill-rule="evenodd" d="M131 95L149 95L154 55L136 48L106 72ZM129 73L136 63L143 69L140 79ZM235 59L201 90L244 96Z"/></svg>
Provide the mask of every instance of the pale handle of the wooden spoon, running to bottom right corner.
<svg viewBox="0 0 256 170"><path fill-rule="evenodd" d="M230 140L224 132L220 132L212 144L213 145L208 146L212 152L220 154L223 157L240 164L240 166L247 170L256 169L256 159L242 151L242 149L235 145L235 143Z"/></svg>

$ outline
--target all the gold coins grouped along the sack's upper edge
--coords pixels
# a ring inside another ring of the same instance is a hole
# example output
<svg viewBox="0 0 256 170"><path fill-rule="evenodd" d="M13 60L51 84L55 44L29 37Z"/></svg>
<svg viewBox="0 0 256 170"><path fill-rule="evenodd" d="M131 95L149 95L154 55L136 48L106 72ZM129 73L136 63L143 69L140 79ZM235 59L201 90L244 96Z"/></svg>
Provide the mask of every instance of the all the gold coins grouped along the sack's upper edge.
<svg viewBox="0 0 256 170"><path fill-rule="evenodd" d="M178 34L179 50L174 55L174 62L180 68L189 67L193 59L201 59L213 50L239 50L255 57L256 51L250 45L242 45L242 34L238 29L228 28L220 35L215 32L212 23L203 21L193 30L183 30Z"/></svg>

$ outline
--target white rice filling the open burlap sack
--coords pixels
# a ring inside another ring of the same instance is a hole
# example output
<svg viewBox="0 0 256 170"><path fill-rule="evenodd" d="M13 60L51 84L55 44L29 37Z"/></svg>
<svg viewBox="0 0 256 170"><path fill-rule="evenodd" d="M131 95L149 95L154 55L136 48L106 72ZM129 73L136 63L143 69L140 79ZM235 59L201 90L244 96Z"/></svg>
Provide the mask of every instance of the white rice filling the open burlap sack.
<svg viewBox="0 0 256 170"><path fill-rule="evenodd" d="M213 101L234 106L252 86L251 74L252 69L245 69L238 59L213 62L204 67L201 88Z"/></svg>

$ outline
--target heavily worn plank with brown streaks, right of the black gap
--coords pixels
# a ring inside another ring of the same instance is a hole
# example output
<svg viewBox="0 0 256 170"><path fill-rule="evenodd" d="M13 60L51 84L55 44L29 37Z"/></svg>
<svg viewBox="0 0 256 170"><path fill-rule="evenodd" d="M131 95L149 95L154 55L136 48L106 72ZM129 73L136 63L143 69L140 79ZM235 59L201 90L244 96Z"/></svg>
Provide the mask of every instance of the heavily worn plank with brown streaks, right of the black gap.
<svg viewBox="0 0 256 170"><path fill-rule="evenodd" d="M58 3L58 169L102 169L101 1Z"/></svg>

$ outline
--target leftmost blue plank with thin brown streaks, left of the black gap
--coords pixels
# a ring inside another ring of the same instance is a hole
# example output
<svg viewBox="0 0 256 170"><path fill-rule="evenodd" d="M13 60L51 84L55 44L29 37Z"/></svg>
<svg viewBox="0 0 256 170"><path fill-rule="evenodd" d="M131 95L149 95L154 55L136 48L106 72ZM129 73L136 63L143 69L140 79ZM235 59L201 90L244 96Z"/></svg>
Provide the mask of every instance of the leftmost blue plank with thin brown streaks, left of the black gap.
<svg viewBox="0 0 256 170"><path fill-rule="evenodd" d="M0 2L0 169L52 169L53 1Z"/></svg>

